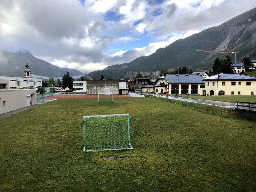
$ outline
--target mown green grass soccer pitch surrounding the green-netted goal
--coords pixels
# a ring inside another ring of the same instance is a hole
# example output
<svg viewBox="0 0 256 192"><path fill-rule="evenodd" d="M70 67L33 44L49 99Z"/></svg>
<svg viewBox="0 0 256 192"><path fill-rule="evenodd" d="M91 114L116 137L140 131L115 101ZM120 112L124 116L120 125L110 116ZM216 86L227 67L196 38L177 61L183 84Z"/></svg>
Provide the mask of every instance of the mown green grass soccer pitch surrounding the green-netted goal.
<svg viewBox="0 0 256 192"><path fill-rule="evenodd" d="M253 191L256 123L163 98L62 98L0 119L0 191ZM83 153L82 116L130 113L133 150Z"/></svg>

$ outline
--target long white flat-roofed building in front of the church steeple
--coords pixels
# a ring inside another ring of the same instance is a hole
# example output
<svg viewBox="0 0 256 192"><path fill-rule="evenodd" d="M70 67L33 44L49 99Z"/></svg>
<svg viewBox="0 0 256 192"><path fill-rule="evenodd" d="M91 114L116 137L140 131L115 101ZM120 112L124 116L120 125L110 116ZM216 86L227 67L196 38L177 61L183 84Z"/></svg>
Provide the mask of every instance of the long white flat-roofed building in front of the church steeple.
<svg viewBox="0 0 256 192"><path fill-rule="evenodd" d="M7 87L7 89L22 89L27 87L36 88L42 86L42 79L38 78L0 76L0 80L9 81L9 87Z"/></svg>

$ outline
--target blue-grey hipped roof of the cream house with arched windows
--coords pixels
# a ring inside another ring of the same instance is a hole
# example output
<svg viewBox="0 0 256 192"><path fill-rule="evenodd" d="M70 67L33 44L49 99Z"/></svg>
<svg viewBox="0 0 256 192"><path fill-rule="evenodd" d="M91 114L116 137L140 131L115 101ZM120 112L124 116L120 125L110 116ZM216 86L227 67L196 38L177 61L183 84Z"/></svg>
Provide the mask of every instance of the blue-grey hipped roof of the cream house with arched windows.
<svg viewBox="0 0 256 192"><path fill-rule="evenodd" d="M219 78L219 75L220 75L220 78ZM239 73L220 73L217 75L207 77L203 80L207 81L207 80L215 80L215 79L220 79L220 80L256 80L256 77L249 76L249 75L243 75L243 74L239 74Z"/></svg>

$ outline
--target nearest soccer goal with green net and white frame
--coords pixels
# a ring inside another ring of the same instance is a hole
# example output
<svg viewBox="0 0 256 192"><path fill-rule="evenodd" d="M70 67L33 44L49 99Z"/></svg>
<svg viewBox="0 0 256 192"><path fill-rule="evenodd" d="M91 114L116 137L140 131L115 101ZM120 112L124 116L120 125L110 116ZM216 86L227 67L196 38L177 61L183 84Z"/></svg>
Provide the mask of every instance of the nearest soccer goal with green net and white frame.
<svg viewBox="0 0 256 192"><path fill-rule="evenodd" d="M83 116L84 152L133 149L129 114Z"/></svg>

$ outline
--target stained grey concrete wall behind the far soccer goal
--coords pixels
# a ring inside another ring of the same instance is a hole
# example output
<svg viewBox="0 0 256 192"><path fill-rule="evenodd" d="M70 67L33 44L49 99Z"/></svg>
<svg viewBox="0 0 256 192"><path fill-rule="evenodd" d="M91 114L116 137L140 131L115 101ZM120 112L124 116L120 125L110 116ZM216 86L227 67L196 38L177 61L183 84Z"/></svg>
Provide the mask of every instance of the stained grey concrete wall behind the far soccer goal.
<svg viewBox="0 0 256 192"><path fill-rule="evenodd" d="M87 94L89 95L95 95L98 93L103 93L103 89L104 88L109 88L110 92L113 94L118 94L118 85L119 82L115 81L115 80L105 80L105 81L101 81L101 80L90 80L87 81Z"/></svg>

